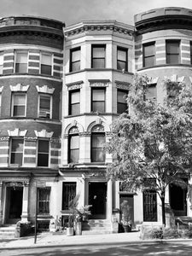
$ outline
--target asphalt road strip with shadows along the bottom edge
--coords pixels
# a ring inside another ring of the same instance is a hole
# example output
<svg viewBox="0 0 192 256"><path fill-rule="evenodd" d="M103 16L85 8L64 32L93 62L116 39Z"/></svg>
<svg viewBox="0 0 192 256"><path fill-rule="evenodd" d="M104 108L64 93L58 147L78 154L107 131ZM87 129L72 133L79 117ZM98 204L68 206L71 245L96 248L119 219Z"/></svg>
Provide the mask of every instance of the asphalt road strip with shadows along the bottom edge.
<svg viewBox="0 0 192 256"><path fill-rule="evenodd" d="M74 246L74 247L36 247L28 249L9 249L0 251L0 256L162 256L162 255L192 255L192 242L169 242L162 244L137 244L137 245L101 245L101 246Z"/></svg>

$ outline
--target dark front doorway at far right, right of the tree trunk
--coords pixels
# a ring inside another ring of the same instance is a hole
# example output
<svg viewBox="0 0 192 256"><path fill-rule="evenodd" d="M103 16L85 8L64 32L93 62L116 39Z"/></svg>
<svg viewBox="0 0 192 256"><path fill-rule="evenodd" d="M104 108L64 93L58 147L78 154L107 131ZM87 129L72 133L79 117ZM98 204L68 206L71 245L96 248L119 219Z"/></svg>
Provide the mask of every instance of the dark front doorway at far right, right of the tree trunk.
<svg viewBox="0 0 192 256"><path fill-rule="evenodd" d="M169 187L170 195L170 207L174 212L175 216L186 216L187 215L187 189L183 189L174 184Z"/></svg>

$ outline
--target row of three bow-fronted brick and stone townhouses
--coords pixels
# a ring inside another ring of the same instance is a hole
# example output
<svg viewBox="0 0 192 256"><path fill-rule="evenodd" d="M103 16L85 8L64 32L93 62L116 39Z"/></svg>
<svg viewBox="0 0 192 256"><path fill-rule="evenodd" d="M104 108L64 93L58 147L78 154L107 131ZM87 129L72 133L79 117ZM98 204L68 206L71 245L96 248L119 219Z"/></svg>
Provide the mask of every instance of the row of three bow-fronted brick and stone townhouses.
<svg viewBox="0 0 192 256"><path fill-rule="evenodd" d="M18 220L49 229L51 219L92 205L110 231L127 200L136 226L161 220L154 191L137 194L105 177L102 148L111 124L127 111L134 73L148 74L148 97L162 102L163 81L192 82L192 15L182 8L135 15L135 26L84 20L73 26L20 16L0 20L0 225ZM188 181L190 183L190 180ZM192 216L191 190L168 188L175 216ZM189 196L187 196L189 195Z"/></svg>

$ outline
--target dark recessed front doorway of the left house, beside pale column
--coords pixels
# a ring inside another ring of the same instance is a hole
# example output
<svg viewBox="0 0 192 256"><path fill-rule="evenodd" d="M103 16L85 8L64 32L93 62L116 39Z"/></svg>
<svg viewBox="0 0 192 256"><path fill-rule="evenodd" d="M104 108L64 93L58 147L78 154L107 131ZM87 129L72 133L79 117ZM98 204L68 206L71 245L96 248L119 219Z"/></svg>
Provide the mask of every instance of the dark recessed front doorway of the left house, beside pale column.
<svg viewBox="0 0 192 256"><path fill-rule="evenodd" d="M6 223L15 224L21 218L23 201L22 187L8 187L7 188L7 218Z"/></svg>

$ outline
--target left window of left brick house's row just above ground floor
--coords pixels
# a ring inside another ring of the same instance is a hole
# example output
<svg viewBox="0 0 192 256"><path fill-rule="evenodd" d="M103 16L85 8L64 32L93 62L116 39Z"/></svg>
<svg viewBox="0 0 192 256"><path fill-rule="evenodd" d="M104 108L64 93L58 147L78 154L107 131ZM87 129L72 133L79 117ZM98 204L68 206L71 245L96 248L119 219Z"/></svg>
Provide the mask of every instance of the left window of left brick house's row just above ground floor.
<svg viewBox="0 0 192 256"><path fill-rule="evenodd" d="M11 140L11 155L10 163L22 166L23 162L23 139L12 139Z"/></svg>

